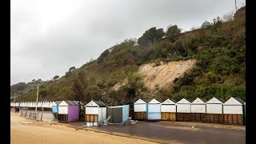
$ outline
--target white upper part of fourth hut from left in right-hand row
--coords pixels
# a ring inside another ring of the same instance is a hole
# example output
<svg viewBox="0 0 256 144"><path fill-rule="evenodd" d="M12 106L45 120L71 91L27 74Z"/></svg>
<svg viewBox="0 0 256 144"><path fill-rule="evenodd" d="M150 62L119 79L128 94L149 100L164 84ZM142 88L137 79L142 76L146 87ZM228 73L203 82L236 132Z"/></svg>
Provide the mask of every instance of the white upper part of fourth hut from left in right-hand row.
<svg viewBox="0 0 256 144"><path fill-rule="evenodd" d="M190 105L191 105L190 100L182 98L182 100L180 100L176 103L177 113L190 113L191 112Z"/></svg>

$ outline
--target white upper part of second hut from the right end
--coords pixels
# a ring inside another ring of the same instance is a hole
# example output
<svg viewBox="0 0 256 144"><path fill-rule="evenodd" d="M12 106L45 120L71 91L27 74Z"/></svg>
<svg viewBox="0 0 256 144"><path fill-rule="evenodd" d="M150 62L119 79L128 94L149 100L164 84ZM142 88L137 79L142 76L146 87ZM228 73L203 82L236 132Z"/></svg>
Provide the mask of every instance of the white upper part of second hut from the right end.
<svg viewBox="0 0 256 144"><path fill-rule="evenodd" d="M206 114L223 114L224 100L221 98L211 98L206 102Z"/></svg>

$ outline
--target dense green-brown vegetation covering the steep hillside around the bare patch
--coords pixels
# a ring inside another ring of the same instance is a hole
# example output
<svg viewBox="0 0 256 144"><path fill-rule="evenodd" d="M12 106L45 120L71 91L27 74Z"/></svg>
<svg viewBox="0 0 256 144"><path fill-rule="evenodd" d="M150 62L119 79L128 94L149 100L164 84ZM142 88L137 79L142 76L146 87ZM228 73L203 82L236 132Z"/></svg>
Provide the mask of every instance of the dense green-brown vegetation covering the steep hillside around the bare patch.
<svg viewBox="0 0 256 144"><path fill-rule="evenodd" d="M126 39L105 50L98 59L81 68L71 67L66 75L40 87L40 100L102 100L108 105L131 104L137 98L195 99L246 98L246 6L236 14L214 18L211 26L181 33L178 26L166 32L156 27L146 30L138 41ZM138 73L143 63L195 58L196 66L173 87L148 90ZM113 86L126 82L119 90ZM16 89L18 90L18 89ZM13 91L11 91L12 93ZM36 89L17 98L35 101Z"/></svg>

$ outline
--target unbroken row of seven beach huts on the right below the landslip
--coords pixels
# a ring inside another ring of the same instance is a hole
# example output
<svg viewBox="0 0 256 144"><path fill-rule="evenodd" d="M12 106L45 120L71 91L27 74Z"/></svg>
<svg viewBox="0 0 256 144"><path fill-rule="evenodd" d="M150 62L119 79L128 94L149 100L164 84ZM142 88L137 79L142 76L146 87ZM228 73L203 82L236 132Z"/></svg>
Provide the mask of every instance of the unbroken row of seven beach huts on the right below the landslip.
<svg viewBox="0 0 256 144"><path fill-rule="evenodd" d="M196 98L193 102L186 98L178 102L139 99L134 102L134 119L245 125L245 106L246 102L233 97L226 102L221 98Z"/></svg>

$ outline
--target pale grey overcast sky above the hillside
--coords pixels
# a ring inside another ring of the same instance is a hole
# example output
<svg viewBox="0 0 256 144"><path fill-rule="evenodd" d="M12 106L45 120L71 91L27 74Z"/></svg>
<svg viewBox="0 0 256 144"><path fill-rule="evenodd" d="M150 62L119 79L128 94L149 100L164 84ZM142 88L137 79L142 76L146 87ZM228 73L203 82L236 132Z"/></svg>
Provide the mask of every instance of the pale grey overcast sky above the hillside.
<svg viewBox="0 0 256 144"><path fill-rule="evenodd" d="M150 27L183 31L234 11L234 0L10 0L10 85L63 76ZM246 5L237 0L238 8Z"/></svg>

